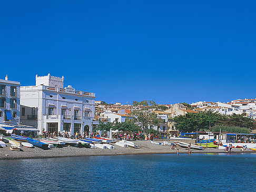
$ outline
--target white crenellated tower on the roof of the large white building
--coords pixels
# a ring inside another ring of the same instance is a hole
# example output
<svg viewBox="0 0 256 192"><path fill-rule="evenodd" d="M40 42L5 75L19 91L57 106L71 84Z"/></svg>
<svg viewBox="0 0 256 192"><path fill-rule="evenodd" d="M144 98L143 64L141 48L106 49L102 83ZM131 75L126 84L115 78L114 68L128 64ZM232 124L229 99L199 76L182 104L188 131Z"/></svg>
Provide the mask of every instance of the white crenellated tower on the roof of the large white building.
<svg viewBox="0 0 256 192"><path fill-rule="evenodd" d="M64 87L64 77L54 77L50 73L47 76L36 75L36 85L45 85L48 87Z"/></svg>

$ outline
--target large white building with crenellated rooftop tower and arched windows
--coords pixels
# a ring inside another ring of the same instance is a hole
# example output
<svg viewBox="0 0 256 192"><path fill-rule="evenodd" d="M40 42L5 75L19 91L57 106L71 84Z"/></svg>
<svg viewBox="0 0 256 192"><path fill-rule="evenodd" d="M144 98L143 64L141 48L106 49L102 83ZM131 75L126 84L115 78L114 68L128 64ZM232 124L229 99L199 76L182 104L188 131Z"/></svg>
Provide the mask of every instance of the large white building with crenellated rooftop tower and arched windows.
<svg viewBox="0 0 256 192"><path fill-rule="evenodd" d="M42 134L70 131L92 132L95 93L64 88L64 77L36 75L35 86L21 87L21 123L34 126ZM97 124L97 122L95 122Z"/></svg>

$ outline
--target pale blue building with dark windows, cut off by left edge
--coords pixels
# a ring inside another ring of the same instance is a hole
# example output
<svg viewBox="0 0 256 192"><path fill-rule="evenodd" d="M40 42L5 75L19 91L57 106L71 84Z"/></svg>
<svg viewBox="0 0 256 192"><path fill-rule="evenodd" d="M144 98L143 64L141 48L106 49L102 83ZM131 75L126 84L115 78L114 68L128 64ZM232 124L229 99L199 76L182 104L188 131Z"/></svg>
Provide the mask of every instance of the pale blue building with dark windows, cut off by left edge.
<svg viewBox="0 0 256 192"><path fill-rule="evenodd" d="M18 125L19 124L19 89L21 84L8 80L0 79L0 124Z"/></svg>

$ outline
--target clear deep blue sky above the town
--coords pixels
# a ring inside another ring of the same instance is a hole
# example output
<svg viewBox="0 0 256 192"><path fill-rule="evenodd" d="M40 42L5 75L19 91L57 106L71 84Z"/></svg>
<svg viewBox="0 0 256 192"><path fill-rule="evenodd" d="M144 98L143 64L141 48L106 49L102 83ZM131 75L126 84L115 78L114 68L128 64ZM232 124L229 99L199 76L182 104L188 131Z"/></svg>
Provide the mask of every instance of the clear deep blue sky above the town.
<svg viewBox="0 0 256 192"><path fill-rule="evenodd" d="M2 1L0 78L96 100L255 98L255 1Z"/></svg>

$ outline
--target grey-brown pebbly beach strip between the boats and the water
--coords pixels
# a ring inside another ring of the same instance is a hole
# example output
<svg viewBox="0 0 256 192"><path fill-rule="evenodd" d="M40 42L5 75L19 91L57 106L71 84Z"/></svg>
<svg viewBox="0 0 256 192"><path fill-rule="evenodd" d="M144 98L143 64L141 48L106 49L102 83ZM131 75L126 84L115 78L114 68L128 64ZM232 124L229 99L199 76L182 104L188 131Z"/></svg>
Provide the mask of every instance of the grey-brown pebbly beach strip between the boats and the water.
<svg viewBox="0 0 256 192"><path fill-rule="evenodd" d="M53 157L71 157L71 156L104 156L104 155L132 155L132 154L172 154L176 153L175 150L171 150L170 146L154 145L149 141L139 140L134 142L139 145L139 149L132 147L123 148L120 146L115 146L115 149L89 149L89 148L78 148L71 146L64 146L62 148L53 148L44 150L41 148L27 148L21 147L21 151L12 151L9 149L9 144L7 147L0 148L0 160L3 159L31 159L31 158L53 158ZM240 153L240 149L232 149L233 153ZM244 152L253 152L248 149ZM179 147L179 153L188 153L184 148ZM213 149L205 148L204 150L192 149L192 153L225 153L224 149Z"/></svg>

